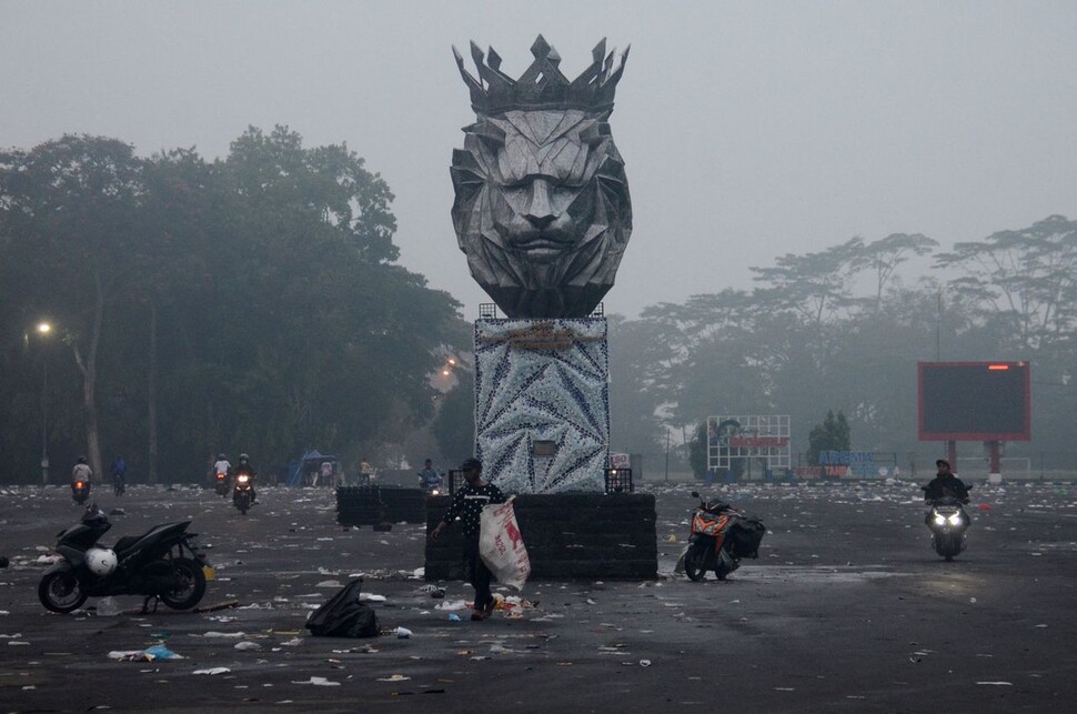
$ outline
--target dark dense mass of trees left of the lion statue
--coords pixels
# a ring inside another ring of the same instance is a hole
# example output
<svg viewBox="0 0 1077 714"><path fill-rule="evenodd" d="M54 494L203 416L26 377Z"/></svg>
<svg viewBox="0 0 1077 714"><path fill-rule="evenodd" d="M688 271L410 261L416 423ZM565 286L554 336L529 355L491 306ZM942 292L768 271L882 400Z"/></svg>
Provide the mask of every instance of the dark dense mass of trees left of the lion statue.
<svg viewBox="0 0 1077 714"><path fill-rule="evenodd" d="M470 343L395 264L392 199L346 145L281 127L217 161L87 135L0 152L0 480L40 480L43 412L53 481L79 454L150 481L218 451L386 457Z"/></svg>

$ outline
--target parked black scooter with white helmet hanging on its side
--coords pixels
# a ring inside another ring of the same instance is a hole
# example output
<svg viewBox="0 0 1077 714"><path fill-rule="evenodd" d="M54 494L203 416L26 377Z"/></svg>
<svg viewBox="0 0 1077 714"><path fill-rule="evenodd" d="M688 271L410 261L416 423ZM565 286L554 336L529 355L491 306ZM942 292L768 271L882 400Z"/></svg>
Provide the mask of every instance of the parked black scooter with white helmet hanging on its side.
<svg viewBox="0 0 1077 714"><path fill-rule="evenodd" d="M188 533L190 521L158 525L142 535L127 535L112 549L98 540L112 527L97 504L87 506L82 520L57 535L53 549L63 560L46 571L38 599L52 612L78 610L87 597L144 595L173 610L190 610L205 594L212 569ZM154 610L157 604L154 603Z"/></svg>

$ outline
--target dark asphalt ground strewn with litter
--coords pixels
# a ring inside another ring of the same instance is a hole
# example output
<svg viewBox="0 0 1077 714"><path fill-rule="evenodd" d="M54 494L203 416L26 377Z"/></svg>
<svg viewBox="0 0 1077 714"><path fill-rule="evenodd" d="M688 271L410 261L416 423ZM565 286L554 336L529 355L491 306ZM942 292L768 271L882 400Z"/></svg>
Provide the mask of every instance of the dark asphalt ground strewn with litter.
<svg viewBox="0 0 1077 714"><path fill-rule="evenodd" d="M94 494L123 512L105 543L192 520L217 580L199 612L142 615L130 596L52 614L37 584L81 507L0 486L0 711L1071 711L1077 486L978 485L952 563L910 482L715 489L768 533L703 583L673 573L691 487L641 487L658 580L529 582L471 622L470 587L423 580L423 525L345 529L330 490L288 487L260 487L246 516L197 487ZM310 636L354 576L384 634ZM154 646L164 658L132 655Z"/></svg>

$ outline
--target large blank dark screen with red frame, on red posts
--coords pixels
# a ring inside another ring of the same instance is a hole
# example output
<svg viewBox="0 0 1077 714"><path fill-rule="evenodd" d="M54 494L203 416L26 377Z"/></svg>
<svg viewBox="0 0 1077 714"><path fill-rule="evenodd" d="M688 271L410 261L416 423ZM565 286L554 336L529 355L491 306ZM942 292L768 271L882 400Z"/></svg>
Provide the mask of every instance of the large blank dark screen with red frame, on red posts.
<svg viewBox="0 0 1077 714"><path fill-rule="evenodd" d="M1031 439L1028 362L918 362L920 441Z"/></svg>

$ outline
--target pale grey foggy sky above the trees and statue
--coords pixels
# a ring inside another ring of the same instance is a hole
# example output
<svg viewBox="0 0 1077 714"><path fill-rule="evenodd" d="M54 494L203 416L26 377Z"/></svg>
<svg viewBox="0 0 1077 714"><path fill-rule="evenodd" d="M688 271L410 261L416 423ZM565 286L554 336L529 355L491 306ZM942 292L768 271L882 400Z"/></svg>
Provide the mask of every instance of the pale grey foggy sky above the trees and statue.
<svg viewBox="0 0 1077 714"><path fill-rule="evenodd" d="M0 147L67 132L208 160L253 124L346 143L396 195L401 264L491 302L450 220L474 120L451 46L570 79L632 46L611 127L634 231L606 313L749 288L854 235L1077 218L1077 3L0 0ZM474 73L469 62L469 69Z"/></svg>

